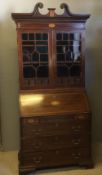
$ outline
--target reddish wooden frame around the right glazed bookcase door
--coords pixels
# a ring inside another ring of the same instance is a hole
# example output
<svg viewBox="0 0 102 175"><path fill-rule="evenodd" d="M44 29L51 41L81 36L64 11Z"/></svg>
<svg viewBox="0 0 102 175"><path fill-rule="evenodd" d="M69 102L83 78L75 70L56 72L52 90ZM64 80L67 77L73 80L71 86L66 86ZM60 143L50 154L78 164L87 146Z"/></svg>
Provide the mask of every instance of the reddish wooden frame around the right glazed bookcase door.
<svg viewBox="0 0 102 175"><path fill-rule="evenodd" d="M62 24L63 25L63 24ZM77 30L76 28L74 29L70 29L70 28L67 28L67 26L65 25L65 28L58 28L57 29L53 29L52 30L52 42L53 42L53 67L54 67L54 82L57 82L57 63L56 63L56 60L57 60L57 53L56 53L56 34L57 33L80 33L80 47L81 47L81 51L80 51L80 87L84 87L85 85L85 56L84 56L84 47L85 47L85 41L84 41L84 35L85 35L85 32L84 30ZM58 86L57 83L54 84L54 86ZM59 87L59 86L58 86ZM60 85L60 87L63 87L62 85ZM65 86L66 87L66 86ZM67 86L67 88L70 88L69 86Z"/></svg>

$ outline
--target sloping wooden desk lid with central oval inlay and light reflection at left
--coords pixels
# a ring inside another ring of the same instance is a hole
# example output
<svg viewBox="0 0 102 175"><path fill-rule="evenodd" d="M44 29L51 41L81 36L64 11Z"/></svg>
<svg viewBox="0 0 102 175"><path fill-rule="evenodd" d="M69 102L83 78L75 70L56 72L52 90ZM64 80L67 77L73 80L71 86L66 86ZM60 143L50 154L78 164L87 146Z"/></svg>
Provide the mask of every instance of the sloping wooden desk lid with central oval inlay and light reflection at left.
<svg viewBox="0 0 102 175"><path fill-rule="evenodd" d="M87 95L84 90L21 92L19 102L20 115L22 117L90 112Z"/></svg>

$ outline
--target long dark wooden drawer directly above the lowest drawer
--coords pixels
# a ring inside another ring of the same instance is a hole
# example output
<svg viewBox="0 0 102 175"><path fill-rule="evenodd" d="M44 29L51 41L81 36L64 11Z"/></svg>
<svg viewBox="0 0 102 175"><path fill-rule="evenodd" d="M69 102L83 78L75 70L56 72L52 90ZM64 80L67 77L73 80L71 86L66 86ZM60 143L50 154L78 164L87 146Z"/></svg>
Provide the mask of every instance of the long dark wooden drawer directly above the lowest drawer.
<svg viewBox="0 0 102 175"><path fill-rule="evenodd" d="M90 145L90 135L56 135L46 137L24 137L21 139L22 151L42 151L60 148L85 147Z"/></svg>

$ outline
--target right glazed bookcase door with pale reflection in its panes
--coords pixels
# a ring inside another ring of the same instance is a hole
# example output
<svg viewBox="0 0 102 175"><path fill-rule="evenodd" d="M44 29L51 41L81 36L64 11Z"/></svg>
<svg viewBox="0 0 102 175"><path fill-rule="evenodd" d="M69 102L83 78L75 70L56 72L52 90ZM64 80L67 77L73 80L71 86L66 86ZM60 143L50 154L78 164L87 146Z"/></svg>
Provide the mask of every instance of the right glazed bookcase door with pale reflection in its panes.
<svg viewBox="0 0 102 175"><path fill-rule="evenodd" d="M57 86L81 86L82 41L80 32L55 33L55 65Z"/></svg>

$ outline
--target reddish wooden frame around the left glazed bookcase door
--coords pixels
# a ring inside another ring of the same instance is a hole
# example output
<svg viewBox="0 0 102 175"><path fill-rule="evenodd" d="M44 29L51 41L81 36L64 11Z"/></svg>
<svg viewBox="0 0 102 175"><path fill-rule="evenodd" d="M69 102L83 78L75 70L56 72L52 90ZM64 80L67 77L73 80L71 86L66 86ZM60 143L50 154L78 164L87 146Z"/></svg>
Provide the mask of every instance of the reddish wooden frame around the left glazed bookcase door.
<svg viewBox="0 0 102 175"><path fill-rule="evenodd" d="M34 25L35 26L35 25ZM45 25L44 25L45 26ZM48 33L48 74L49 74L49 84L45 87L41 86L32 86L32 87L25 87L24 76L23 76L23 49L22 49L22 34L23 33ZM53 87L53 59L52 59L52 34L51 30L46 26L46 28L42 28L42 26L38 26L38 28L32 29L20 29L17 32L17 41L18 41L18 57L19 57L19 78L20 78L20 89L40 89L40 88L51 88Z"/></svg>

